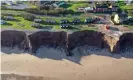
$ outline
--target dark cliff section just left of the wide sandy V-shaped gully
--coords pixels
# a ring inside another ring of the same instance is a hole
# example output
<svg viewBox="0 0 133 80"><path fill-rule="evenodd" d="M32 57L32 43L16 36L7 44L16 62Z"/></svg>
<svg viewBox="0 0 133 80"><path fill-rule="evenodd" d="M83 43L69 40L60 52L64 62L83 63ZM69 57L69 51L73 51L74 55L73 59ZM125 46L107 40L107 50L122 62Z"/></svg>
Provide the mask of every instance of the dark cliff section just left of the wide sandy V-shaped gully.
<svg viewBox="0 0 133 80"><path fill-rule="evenodd" d="M69 34L68 48L74 49L77 46L96 46L98 48L106 48L107 44L104 41L104 34L97 31L78 31Z"/></svg>

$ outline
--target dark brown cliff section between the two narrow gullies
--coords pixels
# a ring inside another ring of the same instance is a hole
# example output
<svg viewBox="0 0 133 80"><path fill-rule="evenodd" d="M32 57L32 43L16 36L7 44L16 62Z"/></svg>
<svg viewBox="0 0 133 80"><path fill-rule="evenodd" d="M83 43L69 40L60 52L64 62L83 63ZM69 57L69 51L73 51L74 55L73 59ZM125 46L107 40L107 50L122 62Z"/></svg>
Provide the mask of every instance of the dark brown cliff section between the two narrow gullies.
<svg viewBox="0 0 133 80"><path fill-rule="evenodd" d="M32 45L32 51L35 52L40 46L66 47L67 43L66 32L48 32L40 31L29 35L29 39Z"/></svg>

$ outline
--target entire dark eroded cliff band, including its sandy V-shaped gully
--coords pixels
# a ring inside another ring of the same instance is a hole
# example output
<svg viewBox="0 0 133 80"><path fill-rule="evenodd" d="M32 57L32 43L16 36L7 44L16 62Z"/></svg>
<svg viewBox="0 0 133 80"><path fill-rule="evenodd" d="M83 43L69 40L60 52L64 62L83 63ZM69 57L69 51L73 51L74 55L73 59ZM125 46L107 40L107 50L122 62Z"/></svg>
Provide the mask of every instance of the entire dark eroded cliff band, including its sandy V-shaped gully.
<svg viewBox="0 0 133 80"><path fill-rule="evenodd" d="M35 53L41 46L57 48L63 47L66 52L71 52L78 46L95 46L107 48L110 52L120 53L123 49L133 47L133 33L125 33L116 39L97 31L77 31L72 34L67 32L39 31L31 35L26 35L22 31L2 31L1 46L15 47L30 50Z"/></svg>

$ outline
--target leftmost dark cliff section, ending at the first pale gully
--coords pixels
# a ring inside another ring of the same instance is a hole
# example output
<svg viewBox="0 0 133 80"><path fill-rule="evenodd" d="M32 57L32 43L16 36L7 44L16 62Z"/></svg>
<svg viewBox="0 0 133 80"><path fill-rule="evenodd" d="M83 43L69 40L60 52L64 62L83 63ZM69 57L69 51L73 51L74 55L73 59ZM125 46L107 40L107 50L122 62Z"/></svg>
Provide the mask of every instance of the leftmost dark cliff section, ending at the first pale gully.
<svg viewBox="0 0 133 80"><path fill-rule="evenodd" d="M6 30L1 32L1 46L15 47L19 49L28 50L29 41L27 35L22 31Z"/></svg>

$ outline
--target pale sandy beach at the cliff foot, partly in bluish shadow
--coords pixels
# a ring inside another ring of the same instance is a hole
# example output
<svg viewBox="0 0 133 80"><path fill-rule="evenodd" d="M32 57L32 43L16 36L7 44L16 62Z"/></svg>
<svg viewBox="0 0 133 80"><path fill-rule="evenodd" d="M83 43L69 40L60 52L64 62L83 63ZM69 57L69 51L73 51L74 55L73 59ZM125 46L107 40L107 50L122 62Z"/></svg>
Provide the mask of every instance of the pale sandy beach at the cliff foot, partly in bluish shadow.
<svg viewBox="0 0 133 80"><path fill-rule="evenodd" d="M48 77L45 80L133 80L133 57L77 51L73 57L46 48L38 50L36 56L2 53L2 73Z"/></svg>

